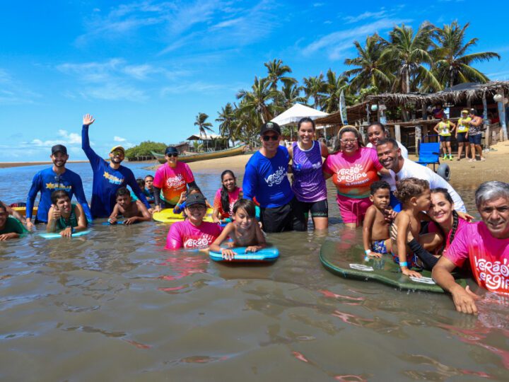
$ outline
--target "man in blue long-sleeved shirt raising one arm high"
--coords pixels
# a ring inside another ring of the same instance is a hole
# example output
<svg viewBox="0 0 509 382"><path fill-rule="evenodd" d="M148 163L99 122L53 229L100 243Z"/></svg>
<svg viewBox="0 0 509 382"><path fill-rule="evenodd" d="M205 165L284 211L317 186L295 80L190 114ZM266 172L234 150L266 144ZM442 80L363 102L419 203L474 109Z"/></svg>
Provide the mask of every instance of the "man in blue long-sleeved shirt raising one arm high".
<svg viewBox="0 0 509 382"><path fill-rule="evenodd" d="M90 161L93 171L92 185L92 216L95 218L105 218L110 216L115 207L117 190L120 187L129 185L134 195L146 205L149 212L152 212L145 195L140 190L136 178L129 168L121 166L124 160L125 150L122 146L115 146L110 151L110 163L95 154L90 147L88 139L88 127L95 120L90 114L83 117L83 129L81 130L81 148Z"/></svg>

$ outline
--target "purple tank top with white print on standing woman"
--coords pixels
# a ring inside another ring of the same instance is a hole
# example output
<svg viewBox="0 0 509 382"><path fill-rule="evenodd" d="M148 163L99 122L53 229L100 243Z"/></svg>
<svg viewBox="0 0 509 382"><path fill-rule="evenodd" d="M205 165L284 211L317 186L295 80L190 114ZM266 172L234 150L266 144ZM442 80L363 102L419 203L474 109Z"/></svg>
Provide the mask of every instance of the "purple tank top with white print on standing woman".
<svg viewBox="0 0 509 382"><path fill-rule="evenodd" d="M319 202L327 199L327 185L322 173L320 142L313 141L311 149L303 151L293 142L292 190L300 202Z"/></svg>

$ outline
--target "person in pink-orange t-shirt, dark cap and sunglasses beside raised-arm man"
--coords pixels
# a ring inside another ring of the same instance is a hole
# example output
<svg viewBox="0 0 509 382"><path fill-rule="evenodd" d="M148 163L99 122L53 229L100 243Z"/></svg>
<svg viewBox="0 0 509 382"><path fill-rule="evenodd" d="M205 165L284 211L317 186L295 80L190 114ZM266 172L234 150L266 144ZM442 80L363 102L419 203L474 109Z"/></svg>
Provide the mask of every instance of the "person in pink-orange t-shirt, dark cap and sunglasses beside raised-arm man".
<svg viewBox="0 0 509 382"><path fill-rule="evenodd" d="M179 152L175 147L168 146L165 150L166 163L156 170L153 180L154 212L163 208L175 207L182 192L189 187L198 187L194 175L187 163L179 162Z"/></svg>

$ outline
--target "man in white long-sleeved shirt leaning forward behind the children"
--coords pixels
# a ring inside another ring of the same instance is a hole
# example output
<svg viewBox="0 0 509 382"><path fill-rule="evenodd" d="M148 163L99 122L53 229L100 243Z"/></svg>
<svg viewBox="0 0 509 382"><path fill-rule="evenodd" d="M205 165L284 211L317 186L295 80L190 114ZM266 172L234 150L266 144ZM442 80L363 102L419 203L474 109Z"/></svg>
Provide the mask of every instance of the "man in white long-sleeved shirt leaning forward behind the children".
<svg viewBox="0 0 509 382"><path fill-rule="evenodd" d="M390 170L390 177L384 178L391 186L391 192L396 190L396 182L405 178L417 178L427 180L430 189L445 188L454 201L457 211L467 212L460 195L454 188L440 175L433 172L431 168L422 166L419 163L402 157L401 150L394 139L384 139L378 142L377 154L380 164Z"/></svg>

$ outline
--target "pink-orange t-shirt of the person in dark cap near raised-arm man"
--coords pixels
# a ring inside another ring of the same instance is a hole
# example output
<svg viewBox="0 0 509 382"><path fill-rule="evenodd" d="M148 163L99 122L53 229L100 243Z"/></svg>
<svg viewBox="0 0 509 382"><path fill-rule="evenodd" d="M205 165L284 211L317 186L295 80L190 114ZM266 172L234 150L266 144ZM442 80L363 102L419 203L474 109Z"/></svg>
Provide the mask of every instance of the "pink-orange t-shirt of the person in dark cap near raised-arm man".
<svg viewBox="0 0 509 382"><path fill-rule="evenodd" d="M165 163L156 170L153 185L161 189L165 202L177 204L180 194L187 190L187 183L193 180L194 176L187 163L177 162L175 168Z"/></svg>

